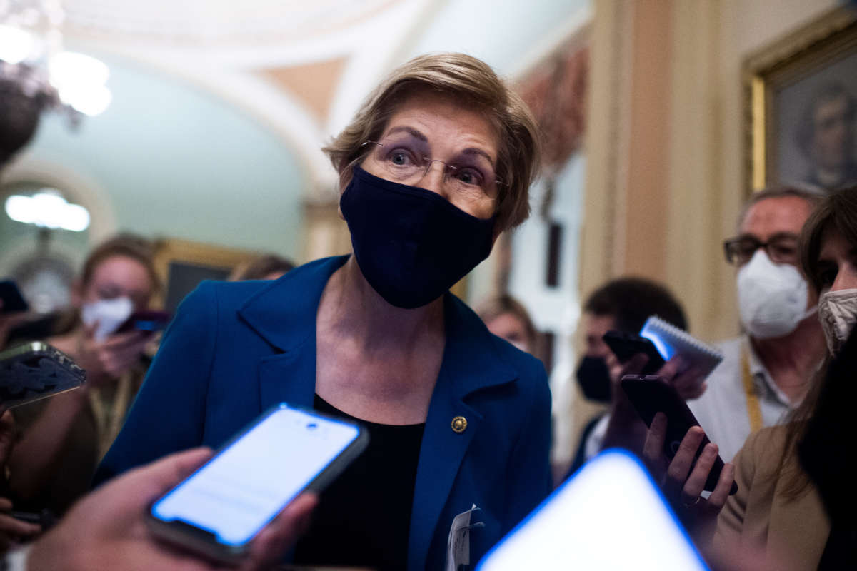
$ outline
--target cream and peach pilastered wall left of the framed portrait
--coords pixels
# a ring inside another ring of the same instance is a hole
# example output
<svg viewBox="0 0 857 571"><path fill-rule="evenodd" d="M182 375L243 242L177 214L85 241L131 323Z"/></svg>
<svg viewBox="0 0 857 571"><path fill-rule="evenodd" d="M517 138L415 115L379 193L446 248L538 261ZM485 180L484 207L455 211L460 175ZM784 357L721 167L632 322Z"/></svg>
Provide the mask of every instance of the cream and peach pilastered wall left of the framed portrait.
<svg viewBox="0 0 857 571"><path fill-rule="evenodd" d="M746 197L741 66L835 0L598 0L580 294L626 274L673 289L692 332L738 331L722 241ZM595 410L581 398L572 424Z"/></svg>

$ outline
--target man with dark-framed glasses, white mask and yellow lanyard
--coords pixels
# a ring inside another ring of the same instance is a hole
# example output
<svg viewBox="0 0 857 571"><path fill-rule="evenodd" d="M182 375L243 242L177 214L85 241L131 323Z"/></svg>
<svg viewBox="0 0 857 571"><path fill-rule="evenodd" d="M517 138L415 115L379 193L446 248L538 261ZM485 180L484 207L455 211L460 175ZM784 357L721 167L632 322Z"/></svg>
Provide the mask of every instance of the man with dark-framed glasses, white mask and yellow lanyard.
<svg viewBox="0 0 857 571"><path fill-rule="evenodd" d="M743 335L723 342L708 390L689 401L699 424L731 460L752 431L786 419L824 358L817 301L800 273L800 229L820 199L795 188L753 194L738 235L724 242L736 267Z"/></svg>

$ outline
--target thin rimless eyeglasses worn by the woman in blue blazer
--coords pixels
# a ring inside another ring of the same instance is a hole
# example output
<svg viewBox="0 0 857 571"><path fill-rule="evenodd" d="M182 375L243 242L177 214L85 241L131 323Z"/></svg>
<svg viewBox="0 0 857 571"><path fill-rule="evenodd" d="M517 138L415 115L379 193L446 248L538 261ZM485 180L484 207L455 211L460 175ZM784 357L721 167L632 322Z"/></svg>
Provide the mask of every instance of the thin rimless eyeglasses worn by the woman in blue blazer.
<svg viewBox="0 0 857 571"><path fill-rule="evenodd" d="M465 154L460 162L447 163L419 152L415 140L368 140L362 146L375 146L369 159L389 174L392 181L411 184L421 181L434 163L443 164L443 183L452 192L467 199L494 199L498 186L506 186L494 175L487 157Z"/></svg>

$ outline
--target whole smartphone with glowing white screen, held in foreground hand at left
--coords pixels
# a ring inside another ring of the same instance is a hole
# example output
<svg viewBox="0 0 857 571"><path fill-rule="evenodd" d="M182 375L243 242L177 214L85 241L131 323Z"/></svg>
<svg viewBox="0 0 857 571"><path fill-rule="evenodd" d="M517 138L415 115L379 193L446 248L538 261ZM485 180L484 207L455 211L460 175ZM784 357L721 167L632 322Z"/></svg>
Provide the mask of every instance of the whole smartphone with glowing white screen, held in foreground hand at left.
<svg viewBox="0 0 857 571"><path fill-rule="evenodd" d="M159 538L237 564L292 499L321 491L368 443L360 425L279 404L156 500L147 520Z"/></svg>

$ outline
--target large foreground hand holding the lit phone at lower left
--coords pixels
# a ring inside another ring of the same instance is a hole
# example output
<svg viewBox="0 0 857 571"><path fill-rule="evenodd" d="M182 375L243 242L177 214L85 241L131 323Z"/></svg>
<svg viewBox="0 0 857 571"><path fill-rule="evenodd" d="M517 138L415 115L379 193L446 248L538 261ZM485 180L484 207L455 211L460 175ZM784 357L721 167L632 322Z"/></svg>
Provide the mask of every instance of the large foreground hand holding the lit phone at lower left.
<svg viewBox="0 0 857 571"><path fill-rule="evenodd" d="M93 491L77 503L59 525L33 544L27 568L57 571L211 571L217 568L213 563L159 542L145 523L149 504L210 456L208 449L174 454ZM278 562L308 526L315 503L317 499L311 494L293 500L253 539L242 564L231 569L251 571Z"/></svg>

